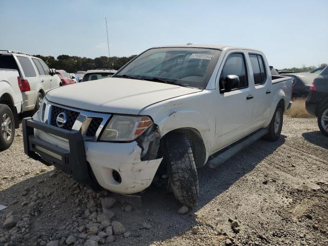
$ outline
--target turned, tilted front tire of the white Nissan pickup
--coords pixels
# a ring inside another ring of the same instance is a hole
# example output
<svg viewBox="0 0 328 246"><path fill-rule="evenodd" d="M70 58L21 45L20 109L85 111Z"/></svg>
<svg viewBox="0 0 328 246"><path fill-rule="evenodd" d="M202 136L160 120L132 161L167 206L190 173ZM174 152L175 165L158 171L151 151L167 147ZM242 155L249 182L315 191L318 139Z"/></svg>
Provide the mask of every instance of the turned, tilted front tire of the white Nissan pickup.
<svg viewBox="0 0 328 246"><path fill-rule="evenodd" d="M163 155L175 198L187 207L198 204L199 186L195 160L189 138L182 133L170 135Z"/></svg>

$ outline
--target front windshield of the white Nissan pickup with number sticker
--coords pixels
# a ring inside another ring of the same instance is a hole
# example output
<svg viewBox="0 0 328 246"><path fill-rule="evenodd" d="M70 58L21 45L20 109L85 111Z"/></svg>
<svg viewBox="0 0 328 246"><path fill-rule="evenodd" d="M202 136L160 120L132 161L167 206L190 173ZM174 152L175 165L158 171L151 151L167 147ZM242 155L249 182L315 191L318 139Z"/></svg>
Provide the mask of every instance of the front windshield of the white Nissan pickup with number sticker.
<svg viewBox="0 0 328 246"><path fill-rule="evenodd" d="M206 88L220 51L202 48L155 48L135 58L115 77L153 80Z"/></svg>

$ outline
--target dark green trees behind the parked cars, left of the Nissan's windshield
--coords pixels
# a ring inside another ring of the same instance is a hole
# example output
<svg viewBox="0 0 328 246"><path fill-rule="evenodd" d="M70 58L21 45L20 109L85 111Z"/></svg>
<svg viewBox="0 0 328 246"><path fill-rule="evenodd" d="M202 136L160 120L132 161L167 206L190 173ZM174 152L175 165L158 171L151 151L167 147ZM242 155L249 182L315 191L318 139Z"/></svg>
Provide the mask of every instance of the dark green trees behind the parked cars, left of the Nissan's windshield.
<svg viewBox="0 0 328 246"><path fill-rule="evenodd" d="M107 56L100 56L94 59L70 55L58 55L57 58L54 56L43 55L34 56L43 59L49 68L63 69L69 73L76 73L76 71L87 71L97 68L110 68L118 70L136 55L131 55L129 57L112 56L110 58Z"/></svg>

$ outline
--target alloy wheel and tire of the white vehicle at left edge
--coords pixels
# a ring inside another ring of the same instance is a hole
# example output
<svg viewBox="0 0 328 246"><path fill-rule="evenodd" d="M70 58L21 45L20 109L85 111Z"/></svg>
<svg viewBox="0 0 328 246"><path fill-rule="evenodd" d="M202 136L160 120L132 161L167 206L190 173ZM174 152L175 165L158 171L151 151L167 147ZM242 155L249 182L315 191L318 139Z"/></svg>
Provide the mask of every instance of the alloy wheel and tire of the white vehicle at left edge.
<svg viewBox="0 0 328 246"><path fill-rule="evenodd" d="M0 150L8 149L15 136L15 118L11 109L0 104Z"/></svg>

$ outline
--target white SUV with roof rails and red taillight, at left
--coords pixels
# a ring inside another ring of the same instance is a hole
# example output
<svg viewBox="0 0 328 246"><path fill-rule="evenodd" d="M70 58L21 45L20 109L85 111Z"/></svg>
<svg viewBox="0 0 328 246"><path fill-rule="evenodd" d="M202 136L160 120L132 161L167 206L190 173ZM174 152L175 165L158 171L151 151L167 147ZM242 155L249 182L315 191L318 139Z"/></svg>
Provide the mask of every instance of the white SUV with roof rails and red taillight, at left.
<svg viewBox="0 0 328 246"><path fill-rule="evenodd" d="M0 68L19 73L23 96L21 112L36 112L45 94L60 84L54 69L49 69L42 59L25 53L1 50Z"/></svg>

